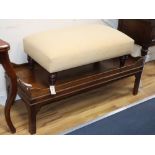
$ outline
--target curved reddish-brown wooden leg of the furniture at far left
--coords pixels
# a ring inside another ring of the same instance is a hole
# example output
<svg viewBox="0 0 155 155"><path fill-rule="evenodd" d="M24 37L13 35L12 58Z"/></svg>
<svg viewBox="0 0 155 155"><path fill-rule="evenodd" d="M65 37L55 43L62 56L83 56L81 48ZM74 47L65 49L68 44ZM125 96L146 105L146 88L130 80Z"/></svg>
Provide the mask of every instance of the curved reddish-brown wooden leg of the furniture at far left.
<svg viewBox="0 0 155 155"><path fill-rule="evenodd" d="M3 54L0 55L0 61L10 80L8 96L7 96L7 100L5 104L5 119L11 132L15 133L16 129L13 126L12 121L11 121L10 110L11 110L11 106L13 105L15 101L15 97L17 95L17 77L10 63L8 52L5 52L5 53L3 52Z"/></svg>

